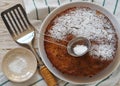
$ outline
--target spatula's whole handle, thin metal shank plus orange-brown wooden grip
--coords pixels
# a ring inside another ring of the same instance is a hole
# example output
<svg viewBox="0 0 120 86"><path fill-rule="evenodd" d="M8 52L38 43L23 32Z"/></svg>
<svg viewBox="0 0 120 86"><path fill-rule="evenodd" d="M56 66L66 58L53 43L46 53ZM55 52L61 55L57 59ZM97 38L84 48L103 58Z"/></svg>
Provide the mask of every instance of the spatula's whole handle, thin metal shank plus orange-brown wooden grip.
<svg viewBox="0 0 120 86"><path fill-rule="evenodd" d="M43 64L43 62L41 62L39 55L33 48L32 44L29 44L29 47L31 48L32 52L34 53L34 55L38 61L38 65L40 66L40 67L38 67L39 68L38 71L44 78L47 85L48 86L57 86L57 80L55 79L53 74L48 70L48 68ZM42 65L41 65L41 63L42 63Z"/></svg>

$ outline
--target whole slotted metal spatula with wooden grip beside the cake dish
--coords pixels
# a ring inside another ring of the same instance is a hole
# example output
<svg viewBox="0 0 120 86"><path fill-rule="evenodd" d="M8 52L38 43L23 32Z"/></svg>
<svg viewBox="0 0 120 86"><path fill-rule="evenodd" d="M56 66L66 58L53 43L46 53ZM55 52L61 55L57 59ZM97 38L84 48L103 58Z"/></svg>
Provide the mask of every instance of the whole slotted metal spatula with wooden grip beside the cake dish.
<svg viewBox="0 0 120 86"><path fill-rule="evenodd" d="M38 66L40 66L40 74L45 79L48 86L56 86L57 82L54 76L41 62L39 55L33 48L33 41L35 38L35 28L29 22L24 8L17 4L1 13L2 19L14 41L24 47L29 46L31 51L36 56Z"/></svg>

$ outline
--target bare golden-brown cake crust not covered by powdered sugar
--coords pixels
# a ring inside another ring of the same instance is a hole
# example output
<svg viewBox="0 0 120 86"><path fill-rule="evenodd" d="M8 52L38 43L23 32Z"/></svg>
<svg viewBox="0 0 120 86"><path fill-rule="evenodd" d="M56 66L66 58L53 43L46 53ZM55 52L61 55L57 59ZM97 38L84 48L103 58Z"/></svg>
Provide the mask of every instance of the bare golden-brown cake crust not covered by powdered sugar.
<svg viewBox="0 0 120 86"><path fill-rule="evenodd" d="M67 11L61 13L57 17L61 16L66 12ZM46 28L45 34L49 34L49 30L53 25L54 25L54 22L51 22L48 25L48 27ZM75 36L73 36L72 34L68 34L66 37L66 40L70 41L74 37ZM65 46L67 45L67 42L63 40L56 41L54 38L49 36L45 36L44 39L52 42L60 43ZM93 45L97 44L97 42L92 40L91 40L91 43ZM68 54L66 47L62 47L57 44L46 42L46 41L44 41L44 46L45 46L47 57L49 58L53 66L56 67L62 73L69 74L69 75L81 76L81 77L84 77L84 76L92 77L93 75L96 75L97 73L105 69L113 61L113 59L101 60L101 59L93 58L94 56L91 56L89 53L87 53L82 57L76 58ZM117 47L117 43L115 46Z"/></svg>

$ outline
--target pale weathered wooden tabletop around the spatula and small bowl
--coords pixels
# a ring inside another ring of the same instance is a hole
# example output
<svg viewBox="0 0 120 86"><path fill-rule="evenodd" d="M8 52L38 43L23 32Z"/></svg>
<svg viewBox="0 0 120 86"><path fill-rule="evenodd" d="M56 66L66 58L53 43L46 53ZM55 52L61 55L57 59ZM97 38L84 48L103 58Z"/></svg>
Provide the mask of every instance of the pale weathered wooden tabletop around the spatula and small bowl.
<svg viewBox="0 0 120 86"><path fill-rule="evenodd" d="M17 4L17 3L21 3L23 5L22 0L0 0L0 13ZM16 44L12 37L10 36L7 28L5 27L1 17L0 17L0 72L1 70L1 62L2 59L4 57L4 55L11 49L14 49L16 47L21 47L18 44ZM118 81L118 83L116 84L116 86L120 86L120 80Z"/></svg>

